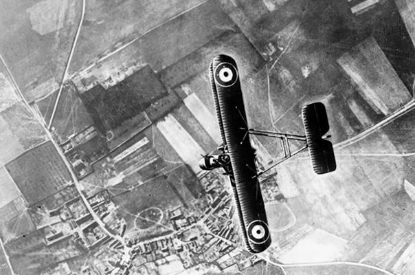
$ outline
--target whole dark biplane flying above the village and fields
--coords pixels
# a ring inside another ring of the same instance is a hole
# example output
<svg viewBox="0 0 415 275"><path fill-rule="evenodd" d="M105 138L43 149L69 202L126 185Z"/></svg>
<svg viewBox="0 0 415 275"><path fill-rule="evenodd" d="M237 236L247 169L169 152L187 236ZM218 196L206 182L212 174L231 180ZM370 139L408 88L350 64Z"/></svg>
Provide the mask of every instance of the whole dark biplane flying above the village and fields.
<svg viewBox="0 0 415 275"><path fill-rule="evenodd" d="M234 59L225 55L214 57L209 74L223 144L217 148L218 155L204 155L199 166L203 170L223 168L224 174L229 176L243 241L249 252L259 253L271 244L259 177L306 148L309 149L315 173L324 174L336 169L333 146L325 140L329 129L326 109L321 102L302 107L304 136L249 129ZM258 171L255 149L251 146L249 135L280 139L284 157ZM304 146L291 152L290 140L304 142Z"/></svg>

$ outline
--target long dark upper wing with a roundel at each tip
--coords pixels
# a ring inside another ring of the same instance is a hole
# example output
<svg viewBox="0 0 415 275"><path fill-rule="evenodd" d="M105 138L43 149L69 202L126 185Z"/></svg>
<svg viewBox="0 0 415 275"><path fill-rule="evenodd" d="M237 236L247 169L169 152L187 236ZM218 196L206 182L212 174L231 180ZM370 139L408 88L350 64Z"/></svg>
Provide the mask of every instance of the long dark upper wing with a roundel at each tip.
<svg viewBox="0 0 415 275"><path fill-rule="evenodd" d="M210 80L223 144L231 160L229 177L244 240L251 252L262 252L271 244L271 238L234 59L216 56L210 65Z"/></svg>

